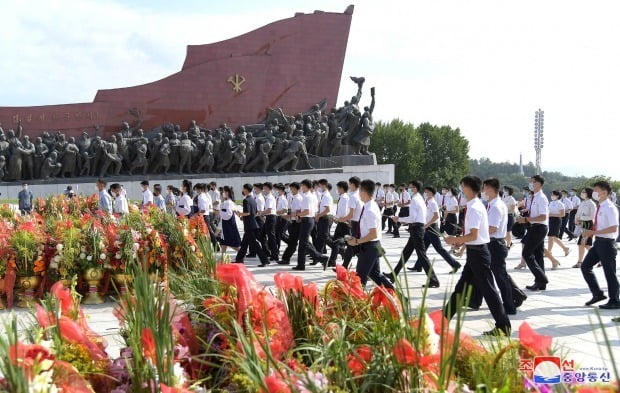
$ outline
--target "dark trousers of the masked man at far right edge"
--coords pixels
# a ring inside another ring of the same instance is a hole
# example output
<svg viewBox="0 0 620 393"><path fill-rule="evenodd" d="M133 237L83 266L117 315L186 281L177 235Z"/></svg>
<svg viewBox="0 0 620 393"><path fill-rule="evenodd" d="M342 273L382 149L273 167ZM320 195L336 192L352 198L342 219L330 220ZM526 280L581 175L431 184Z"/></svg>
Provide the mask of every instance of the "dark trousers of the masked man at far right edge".
<svg viewBox="0 0 620 393"><path fill-rule="evenodd" d="M586 280L592 295L602 295L603 291L598 285L596 275L592 268L597 263L603 265L603 272L607 280L607 292L610 303L620 303L618 298L618 277L616 276L616 242L614 239L596 238L592 248L586 254L581 264L581 274Z"/></svg>

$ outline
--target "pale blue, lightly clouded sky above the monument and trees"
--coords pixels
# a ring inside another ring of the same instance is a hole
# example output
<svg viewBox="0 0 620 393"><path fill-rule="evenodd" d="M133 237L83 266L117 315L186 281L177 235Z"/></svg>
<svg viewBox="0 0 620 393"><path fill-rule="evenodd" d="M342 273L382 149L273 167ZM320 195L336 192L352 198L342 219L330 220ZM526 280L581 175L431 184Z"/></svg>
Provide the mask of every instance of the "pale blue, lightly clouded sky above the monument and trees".
<svg viewBox="0 0 620 393"><path fill-rule="evenodd" d="M187 44L230 38L350 1L23 0L2 6L0 106L92 101L97 89L178 71ZM620 178L620 3L612 0L355 2L339 103L364 75L376 118L459 127L473 158Z"/></svg>

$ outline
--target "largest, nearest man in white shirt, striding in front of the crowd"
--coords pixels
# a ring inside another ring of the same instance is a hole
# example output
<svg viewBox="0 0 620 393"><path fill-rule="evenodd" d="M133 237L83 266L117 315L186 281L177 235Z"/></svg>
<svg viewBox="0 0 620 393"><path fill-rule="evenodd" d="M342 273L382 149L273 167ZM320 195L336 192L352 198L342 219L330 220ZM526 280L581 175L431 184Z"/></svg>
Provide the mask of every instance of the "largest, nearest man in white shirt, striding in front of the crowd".
<svg viewBox="0 0 620 393"><path fill-rule="evenodd" d="M484 334L510 336L510 320L504 311L491 272L491 254L488 248L489 221L486 208L478 199L482 181L475 176L466 176L461 180L461 187L467 198L467 213L462 223L463 236L446 238L446 243L455 246L465 244L467 259L461 278L456 283L450 300L444 306L443 313L448 320L452 319L471 285L476 293L482 294L495 319L495 328Z"/></svg>

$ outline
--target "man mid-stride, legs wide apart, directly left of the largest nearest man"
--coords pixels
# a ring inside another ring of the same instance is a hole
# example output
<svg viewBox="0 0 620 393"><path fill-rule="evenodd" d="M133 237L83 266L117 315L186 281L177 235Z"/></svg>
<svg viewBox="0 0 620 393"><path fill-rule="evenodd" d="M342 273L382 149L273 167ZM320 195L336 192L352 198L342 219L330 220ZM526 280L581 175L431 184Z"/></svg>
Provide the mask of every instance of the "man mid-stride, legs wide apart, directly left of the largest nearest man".
<svg viewBox="0 0 620 393"><path fill-rule="evenodd" d="M394 267L394 273L386 274L386 277L394 282L396 276L405 266L411 254L415 251L418 256L418 261L426 275L428 277L428 287L439 288L439 279L435 272L431 269L431 261L426 255L426 247L424 247L424 225L426 224L426 204L424 199L420 195L419 190L422 188L422 183L414 180L411 183L411 191L413 192L413 198L410 200L407 217L393 217L395 222L402 222L409 224L409 239L403 252L400 256L400 260L396 267Z"/></svg>

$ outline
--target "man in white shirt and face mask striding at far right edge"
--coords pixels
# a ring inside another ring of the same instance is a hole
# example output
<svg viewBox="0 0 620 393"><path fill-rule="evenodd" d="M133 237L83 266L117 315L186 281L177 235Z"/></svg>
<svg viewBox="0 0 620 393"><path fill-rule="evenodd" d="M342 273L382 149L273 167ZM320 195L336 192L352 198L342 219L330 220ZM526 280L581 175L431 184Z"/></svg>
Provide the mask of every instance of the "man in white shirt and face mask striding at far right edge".
<svg viewBox="0 0 620 393"><path fill-rule="evenodd" d="M618 277L616 276L616 238L618 237L618 209L610 200L611 185L606 181L597 181L592 185L592 199L598 201L592 229L584 229L583 236L594 236L594 244L581 264L581 273L586 280L592 299L586 303L590 306L605 300L607 297L601 290L592 268L599 262L603 265L609 301L599 308L612 310L620 308L618 297Z"/></svg>

